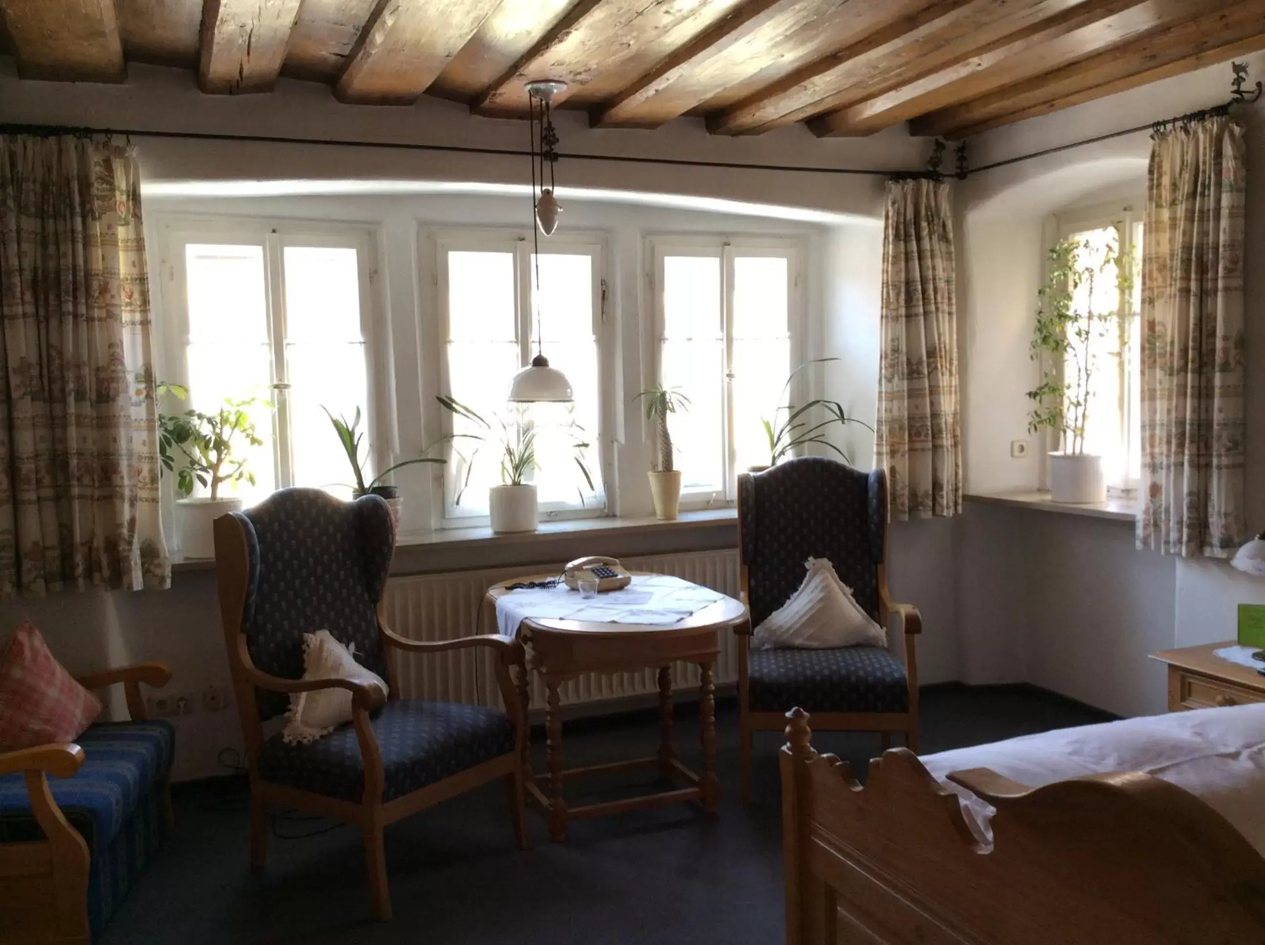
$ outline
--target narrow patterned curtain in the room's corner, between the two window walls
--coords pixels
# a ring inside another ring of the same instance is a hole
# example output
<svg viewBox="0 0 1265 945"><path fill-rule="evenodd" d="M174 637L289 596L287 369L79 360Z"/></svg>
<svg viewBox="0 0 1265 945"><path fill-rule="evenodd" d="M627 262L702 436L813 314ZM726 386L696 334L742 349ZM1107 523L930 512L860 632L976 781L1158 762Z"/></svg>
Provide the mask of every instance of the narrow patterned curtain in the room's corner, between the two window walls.
<svg viewBox="0 0 1265 945"><path fill-rule="evenodd" d="M888 182L874 466L893 519L961 512L954 276L947 182Z"/></svg>

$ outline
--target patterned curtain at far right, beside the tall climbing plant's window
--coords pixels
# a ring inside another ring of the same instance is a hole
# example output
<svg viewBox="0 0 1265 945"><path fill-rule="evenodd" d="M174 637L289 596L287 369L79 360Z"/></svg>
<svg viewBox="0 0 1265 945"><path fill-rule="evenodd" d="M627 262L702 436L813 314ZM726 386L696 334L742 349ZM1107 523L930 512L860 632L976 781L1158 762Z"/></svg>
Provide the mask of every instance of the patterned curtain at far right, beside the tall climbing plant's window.
<svg viewBox="0 0 1265 945"><path fill-rule="evenodd" d="M1142 235L1137 547L1223 558L1243 540L1242 125L1155 135Z"/></svg>

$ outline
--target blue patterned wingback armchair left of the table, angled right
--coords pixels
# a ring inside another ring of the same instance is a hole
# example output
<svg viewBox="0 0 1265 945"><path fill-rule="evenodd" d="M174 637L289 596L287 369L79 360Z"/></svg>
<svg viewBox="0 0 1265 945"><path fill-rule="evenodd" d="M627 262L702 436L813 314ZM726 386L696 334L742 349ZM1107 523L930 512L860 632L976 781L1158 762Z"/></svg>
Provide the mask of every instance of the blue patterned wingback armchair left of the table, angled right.
<svg viewBox="0 0 1265 945"><path fill-rule="evenodd" d="M268 807L309 810L362 827L373 907L391 917L385 825L493 778L510 787L520 846L524 730L511 668L522 648L503 636L440 643L406 640L386 626L382 592L395 549L387 503L377 496L342 502L320 490L290 488L245 512L215 521L224 638L250 774L250 863L264 865ZM354 679L302 679L304 634L329 630L391 687ZM401 700L387 648L435 653L484 646L510 715L448 702ZM262 722L286 712L290 696L342 688L353 721L310 744L263 736Z"/></svg>

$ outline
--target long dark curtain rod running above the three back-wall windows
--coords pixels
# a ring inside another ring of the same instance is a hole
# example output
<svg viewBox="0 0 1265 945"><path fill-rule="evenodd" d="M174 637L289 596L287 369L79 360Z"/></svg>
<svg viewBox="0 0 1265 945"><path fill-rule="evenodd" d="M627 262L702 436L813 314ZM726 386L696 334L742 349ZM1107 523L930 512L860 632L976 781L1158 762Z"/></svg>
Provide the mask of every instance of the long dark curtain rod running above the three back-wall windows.
<svg viewBox="0 0 1265 945"><path fill-rule="evenodd" d="M72 128L62 125L24 125L0 124L0 134L78 134L78 135L105 135L115 138L182 138L188 140L216 140L216 142L261 142L264 144L315 144L335 148L392 148L396 151L440 151L458 154L496 154L506 157L530 157L531 152L514 148L471 148L458 144L415 144L409 142L364 142L349 139L328 138L287 138L269 134L223 134L214 132L144 132L125 128ZM562 153L558 157L568 161L615 161L630 164L674 164L679 167L724 167L737 171L793 171L798 173L832 173L832 175L873 175L878 177L891 177L897 171L870 170L860 167L802 167L796 164L749 164L734 161L693 161L689 158L657 158L638 157L632 154L572 154Z"/></svg>

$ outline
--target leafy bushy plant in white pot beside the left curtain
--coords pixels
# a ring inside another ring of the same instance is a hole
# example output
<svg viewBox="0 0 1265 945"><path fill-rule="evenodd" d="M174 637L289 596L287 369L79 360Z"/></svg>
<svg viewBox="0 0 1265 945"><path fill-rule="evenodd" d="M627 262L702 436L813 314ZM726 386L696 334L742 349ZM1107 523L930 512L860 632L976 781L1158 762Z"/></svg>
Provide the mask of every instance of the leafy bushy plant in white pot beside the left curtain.
<svg viewBox="0 0 1265 945"><path fill-rule="evenodd" d="M182 385L159 383L158 393L188 397ZM186 558L214 558L213 522L221 515L242 510L242 500L221 496L221 488L238 482L254 485L248 459L238 455L248 447L261 447L249 409L264 406L256 397L226 400L214 414L186 410L158 415L158 459L162 468L176 476L176 533ZM177 468L177 455L182 460ZM194 497L201 486L209 496Z"/></svg>

